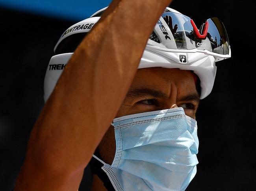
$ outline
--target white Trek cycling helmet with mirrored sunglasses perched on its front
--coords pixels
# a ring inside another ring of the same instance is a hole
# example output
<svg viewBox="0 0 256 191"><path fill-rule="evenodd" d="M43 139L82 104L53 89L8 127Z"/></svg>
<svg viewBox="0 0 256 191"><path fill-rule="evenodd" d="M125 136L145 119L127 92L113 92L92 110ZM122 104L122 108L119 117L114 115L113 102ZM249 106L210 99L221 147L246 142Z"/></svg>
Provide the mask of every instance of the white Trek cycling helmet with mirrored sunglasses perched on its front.
<svg viewBox="0 0 256 191"><path fill-rule="evenodd" d="M54 47L45 82L45 102L76 47L107 7L69 27ZM228 35L218 18L210 18L200 29L188 16L166 7L148 39L140 68L165 67L193 71L200 79L200 99L211 93L216 75L215 62L230 58Z"/></svg>

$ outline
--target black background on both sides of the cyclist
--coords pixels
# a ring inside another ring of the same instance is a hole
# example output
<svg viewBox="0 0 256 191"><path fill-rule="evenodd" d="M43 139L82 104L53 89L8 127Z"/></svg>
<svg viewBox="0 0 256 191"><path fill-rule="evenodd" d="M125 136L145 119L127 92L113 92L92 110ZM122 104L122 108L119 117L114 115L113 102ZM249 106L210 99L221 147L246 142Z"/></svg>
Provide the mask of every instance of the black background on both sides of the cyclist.
<svg viewBox="0 0 256 191"><path fill-rule="evenodd" d="M220 18L232 49L232 58L217 62L213 91L198 109L199 164L188 191L255 190L255 16L250 6L238 0L174 0L170 6L197 26ZM43 81L54 45L78 21L0 8L1 191L13 187L44 105ZM81 190L88 190L86 182Z"/></svg>

